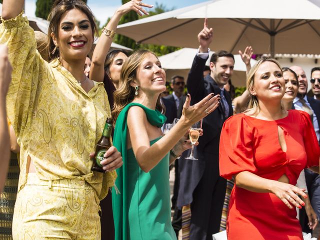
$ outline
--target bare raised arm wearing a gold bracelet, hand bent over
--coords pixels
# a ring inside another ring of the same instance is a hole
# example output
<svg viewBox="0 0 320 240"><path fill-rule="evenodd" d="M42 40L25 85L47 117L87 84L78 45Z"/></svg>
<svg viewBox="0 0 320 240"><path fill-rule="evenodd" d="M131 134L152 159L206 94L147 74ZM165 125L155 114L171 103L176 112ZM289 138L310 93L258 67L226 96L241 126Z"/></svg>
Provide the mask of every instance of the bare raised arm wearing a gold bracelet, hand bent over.
<svg viewBox="0 0 320 240"><path fill-rule="evenodd" d="M121 16L131 10L137 12L140 16L142 16L142 13L148 15L149 13L147 13L142 6L153 7L153 5L143 3L141 0L131 0L116 9L107 25L103 28L102 34L94 48L90 66L90 79L103 81L105 57L110 49L113 32L115 32Z"/></svg>

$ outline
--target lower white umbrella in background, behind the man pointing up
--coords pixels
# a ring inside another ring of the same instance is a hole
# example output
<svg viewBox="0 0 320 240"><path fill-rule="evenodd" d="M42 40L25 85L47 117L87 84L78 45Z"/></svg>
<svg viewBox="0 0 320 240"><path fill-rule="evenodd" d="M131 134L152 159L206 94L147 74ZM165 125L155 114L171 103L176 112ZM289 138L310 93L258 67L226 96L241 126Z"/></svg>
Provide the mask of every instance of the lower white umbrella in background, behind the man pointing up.
<svg viewBox="0 0 320 240"><path fill-rule="evenodd" d="M173 75L181 75L186 80L187 74L191 68L193 58L197 52L196 48L181 48L177 51L165 54L159 57L161 66L165 69L166 80L169 81ZM206 65L209 65L209 59L213 52L210 52ZM251 59L251 65L256 60ZM239 54L234 55L234 71L231 77L232 84L235 86L245 86L246 67Z"/></svg>

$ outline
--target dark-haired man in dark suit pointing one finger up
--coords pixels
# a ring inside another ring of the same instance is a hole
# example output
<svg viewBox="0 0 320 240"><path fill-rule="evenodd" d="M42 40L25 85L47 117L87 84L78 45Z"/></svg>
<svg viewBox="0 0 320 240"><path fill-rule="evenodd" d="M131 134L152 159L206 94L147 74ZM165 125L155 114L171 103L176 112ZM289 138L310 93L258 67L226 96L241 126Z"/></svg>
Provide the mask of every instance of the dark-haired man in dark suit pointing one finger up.
<svg viewBox="0 0 320 240"><path fill-rule="evenodd" d="M187 79L187 89L192 104L209 93L220 95L220 104L202 120L203 135L194 148L198 160L179 159L180 186L178 206L190 204L190 240L209 240L219 231L226 180L219 176L219 138L223 122L233 114L231 98L223 85L228 82L234 65L234 57L227 51L218 51L210 58L210 74L203 77L205 61L212 41L212 28L204 28L198 34L199 50L194 57ZM183 209L183 208L182 208ZM184 221L182 214L182 224ZM184 224L183 224L184 225ZM182 230L183 232L183 230Z"/></svg>

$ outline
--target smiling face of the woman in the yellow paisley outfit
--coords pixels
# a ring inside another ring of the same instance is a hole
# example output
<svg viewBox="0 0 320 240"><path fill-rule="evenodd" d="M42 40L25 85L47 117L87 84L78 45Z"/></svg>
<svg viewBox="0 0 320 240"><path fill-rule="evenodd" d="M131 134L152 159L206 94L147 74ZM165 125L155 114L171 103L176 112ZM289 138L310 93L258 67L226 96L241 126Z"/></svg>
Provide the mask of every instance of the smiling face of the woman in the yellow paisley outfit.
<svg viewBox="0 0 320 240"><path fill-rule="evenodd" d="M58 35L51 33L59 48L61 61L85 59L93 43L93 30L87 15L77 8L65 12L58 25Z"/></svg>

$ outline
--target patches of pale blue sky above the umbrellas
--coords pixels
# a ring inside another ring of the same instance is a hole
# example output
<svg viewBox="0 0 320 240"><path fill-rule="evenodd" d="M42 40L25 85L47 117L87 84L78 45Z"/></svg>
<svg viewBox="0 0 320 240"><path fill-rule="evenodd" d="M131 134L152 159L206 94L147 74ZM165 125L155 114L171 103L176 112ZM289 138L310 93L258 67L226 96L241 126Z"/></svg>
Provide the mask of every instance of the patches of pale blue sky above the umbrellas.
<svg viewBox="0 0 320 240"><path fill-rule="evenodd" d="M25 14L27 16L35 16L35 1L25 0ZM167 9L177 9L184 6L193 5L206 0L143 0L143 2L155 5L163 4ZM91 8L94 16L104 24L109 16L121 5L121 0L87 0L88 6Z"/></svg>

